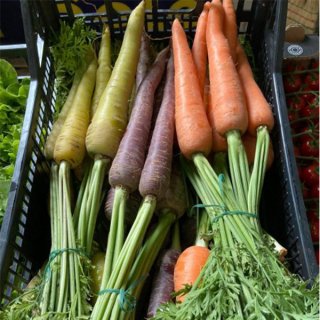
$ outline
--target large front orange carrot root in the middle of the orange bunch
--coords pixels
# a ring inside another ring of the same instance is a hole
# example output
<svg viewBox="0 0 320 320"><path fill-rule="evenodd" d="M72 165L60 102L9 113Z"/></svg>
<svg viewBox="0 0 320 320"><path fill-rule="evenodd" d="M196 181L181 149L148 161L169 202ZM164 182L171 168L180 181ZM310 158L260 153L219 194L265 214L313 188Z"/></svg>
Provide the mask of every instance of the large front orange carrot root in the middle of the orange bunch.
<svg viewBox="0 0 320 320"><path fill-rule="evenodd" d="M233 130L243 134L248 114L237 69L233 63L228 40L223 34L224 11L220 0L213 0L207 22L210 92L217 132L226 136Z"/></svg>

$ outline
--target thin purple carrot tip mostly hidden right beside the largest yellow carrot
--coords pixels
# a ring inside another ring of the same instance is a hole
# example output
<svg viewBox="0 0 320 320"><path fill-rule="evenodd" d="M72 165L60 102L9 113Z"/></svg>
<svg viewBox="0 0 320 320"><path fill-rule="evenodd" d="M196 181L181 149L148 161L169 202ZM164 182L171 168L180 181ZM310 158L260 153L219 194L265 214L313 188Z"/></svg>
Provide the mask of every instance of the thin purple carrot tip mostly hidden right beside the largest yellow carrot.
<svg viewBox="0 0 320 320"><path fill-rule="evenodd" d="M151 65L150 51L150 41L148 35L144 31L141 35L140 56L136 73L136 92L138 91L144 77L147 75L148 69Z"/></svg>

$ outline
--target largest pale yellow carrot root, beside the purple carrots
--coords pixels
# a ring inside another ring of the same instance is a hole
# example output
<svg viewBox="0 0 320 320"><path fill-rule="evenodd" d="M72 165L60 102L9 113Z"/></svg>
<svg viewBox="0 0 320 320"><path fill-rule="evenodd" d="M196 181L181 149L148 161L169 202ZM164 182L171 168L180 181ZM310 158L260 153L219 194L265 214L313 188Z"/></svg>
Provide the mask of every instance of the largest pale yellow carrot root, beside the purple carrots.
<svg viewBox="0 0 320 320"><path fill-rule="evenodd" d="M118 59L88 128L86 147L93 157L114 158L118 150L128 123L143 25L144 1L131 12Z"/></svg>

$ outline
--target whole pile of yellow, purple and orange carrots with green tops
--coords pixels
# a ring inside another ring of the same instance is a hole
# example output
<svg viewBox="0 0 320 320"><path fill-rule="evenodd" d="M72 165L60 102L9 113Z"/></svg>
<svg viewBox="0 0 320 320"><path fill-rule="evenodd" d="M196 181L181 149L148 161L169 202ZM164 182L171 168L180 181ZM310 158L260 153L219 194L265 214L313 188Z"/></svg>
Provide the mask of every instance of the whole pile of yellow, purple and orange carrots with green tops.
<svg viewBox="0 0 320 320"><path fill-rule="evenodd" d="M4 319L316 319L316 286L290 274L259 222L274 119L232 0L205 3L191 49L176 19L154 59L144 9L113 67L104 27L74 72L44 150L50 255ZM197 228L184 248L187 208Z"/></svg>

